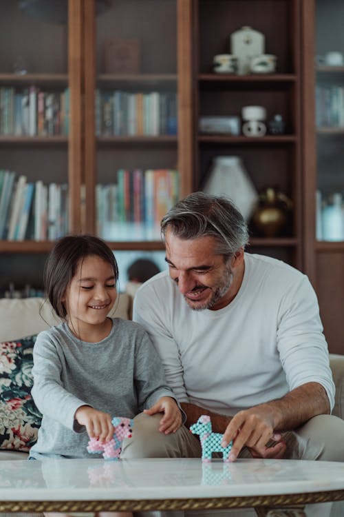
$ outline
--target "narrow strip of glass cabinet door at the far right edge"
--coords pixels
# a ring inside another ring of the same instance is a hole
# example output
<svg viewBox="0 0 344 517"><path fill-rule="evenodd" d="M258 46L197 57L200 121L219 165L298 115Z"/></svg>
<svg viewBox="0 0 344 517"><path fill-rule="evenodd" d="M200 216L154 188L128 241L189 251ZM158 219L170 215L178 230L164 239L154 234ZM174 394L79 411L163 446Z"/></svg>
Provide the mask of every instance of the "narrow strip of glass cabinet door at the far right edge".
<svg viewBox="0 0 344 517"><path fill-rule="evenodd" d="M344 3L316 0L316 239L344 241Z"/></svg>

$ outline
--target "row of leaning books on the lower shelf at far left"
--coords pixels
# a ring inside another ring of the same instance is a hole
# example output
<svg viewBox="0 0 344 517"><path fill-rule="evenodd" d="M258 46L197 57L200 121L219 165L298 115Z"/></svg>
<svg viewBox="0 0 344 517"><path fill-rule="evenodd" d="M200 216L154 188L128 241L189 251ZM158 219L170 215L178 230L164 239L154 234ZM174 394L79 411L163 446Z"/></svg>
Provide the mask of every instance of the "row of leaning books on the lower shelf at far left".
<svg viewBox="0 0 344 517"><path fill-rule="evenodd" d="M0 170L0 240L54 241L68 232L67 184Z"/></svg>

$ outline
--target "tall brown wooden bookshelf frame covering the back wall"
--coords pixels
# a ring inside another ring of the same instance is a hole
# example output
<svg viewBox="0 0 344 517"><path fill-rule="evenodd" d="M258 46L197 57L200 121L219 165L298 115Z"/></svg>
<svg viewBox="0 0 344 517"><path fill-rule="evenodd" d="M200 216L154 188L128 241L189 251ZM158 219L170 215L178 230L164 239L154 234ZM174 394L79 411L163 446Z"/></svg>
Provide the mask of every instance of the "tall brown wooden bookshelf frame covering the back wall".
<svg viewBox="0 0 344 517"><path fill-rule="evenodd" d="M99 17L94 0L69 0L68 5L65 26L25 17L16 2L6 4L6 15L0 6L0 45L8 48L8 41L14 41L0 59L0 88L68 87L71 106L68 137L0 136L0 168L26 174L30 181L67 181L70 230L96 232L96 185L111 183L119 168L176 168L183 197L202 187L215 156L241 156L257 190L276 186L293 203L288 236L264 239L252 233L249 250L299 267L316 286L322 310L331 305L337 311L326 285L333 285L334 276L338 283L343 278L343 243L316 242L314 193L317 152L327 145L344 149L344 129L316 128L314 99L316 81L342 81L344 66L314 65L316 54L332 50L316 48L315 0L136 0L135 11L132 2L116 0ZM325 8L342 13L338 2ZM143 18L150 23L140 23ZM264 33L266 52L277 55L276 73L213 73L213 56L229 52L230 33L244 25ZM111 37L141 41L138 72L105 70L103 41ZM23 54L28 73L12 72L17 54ZM95 136L96 88L177 91L178 134ZM264 105L268 119L282 114L286 133L248 138L198 131L201 116L240 116L241 107L248 104ZM162 250L160 241L109 241L109 245L115 251ZM10 278L18 262L33 271L51 247L50 241L0 241L0 270ZM343 305L344 295L340 301ZM330 316L325 314L329 327ZM338 351L338 333L329 341Z"/></svg>

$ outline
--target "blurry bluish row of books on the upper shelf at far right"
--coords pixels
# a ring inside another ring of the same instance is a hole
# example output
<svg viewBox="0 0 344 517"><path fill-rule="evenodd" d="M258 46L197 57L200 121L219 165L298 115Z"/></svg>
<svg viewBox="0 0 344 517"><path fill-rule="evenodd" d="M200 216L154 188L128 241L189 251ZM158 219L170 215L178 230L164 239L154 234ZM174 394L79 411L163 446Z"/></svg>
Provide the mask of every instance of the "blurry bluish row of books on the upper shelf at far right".
<svg viewBox="0 0 344 517"><path fill-rule="evenodd" d="M344 128L344 87L316 86L316 127Z"/></svg>

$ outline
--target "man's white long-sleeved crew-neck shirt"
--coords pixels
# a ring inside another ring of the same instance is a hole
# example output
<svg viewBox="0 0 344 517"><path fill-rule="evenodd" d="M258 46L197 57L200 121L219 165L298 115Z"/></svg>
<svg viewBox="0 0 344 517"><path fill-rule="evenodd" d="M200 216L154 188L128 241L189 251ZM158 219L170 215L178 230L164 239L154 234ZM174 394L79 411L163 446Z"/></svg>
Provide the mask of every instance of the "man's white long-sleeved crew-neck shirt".
<svg viewBox="0 0 344 517"><path fill-rule="evenodd" d="M191 310L162 272L138 290L133 319L151 336L180 402L233 416L316 382L334 405L316 295L286 263L246 253L237 296L215 311Z"/></svg>

